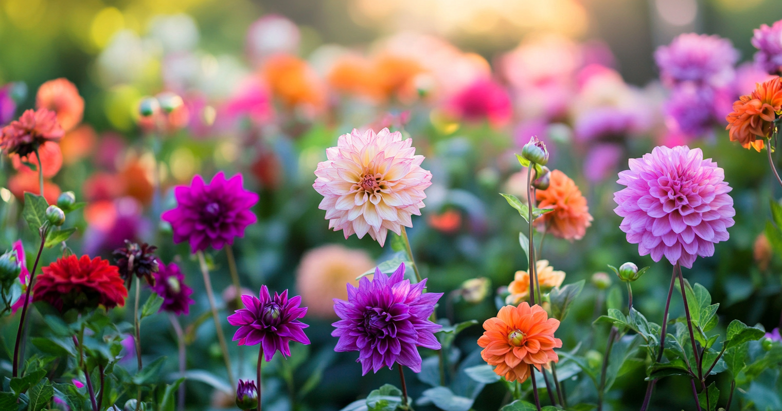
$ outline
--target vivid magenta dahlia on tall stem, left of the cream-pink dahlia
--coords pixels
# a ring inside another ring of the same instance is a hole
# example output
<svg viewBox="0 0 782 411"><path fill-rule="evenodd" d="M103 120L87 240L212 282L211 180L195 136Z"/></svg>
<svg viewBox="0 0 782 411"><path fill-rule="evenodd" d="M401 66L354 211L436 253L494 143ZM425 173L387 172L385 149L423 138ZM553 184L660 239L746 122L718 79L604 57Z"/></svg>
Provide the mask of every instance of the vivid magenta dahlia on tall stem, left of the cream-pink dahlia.
<svg viewBox="0 0 782 411"><path fill-rule="evenodd" d="M196 175L189 187L174 188L174 195L177 208L160 218L171 223L174 242L189 241L192 252L210 245L218 250L231 245L257 220L250 209L258 202L258 195L242 187L241 173L226 180L221 171L210 184L204 184L203 177Z"/></svg>

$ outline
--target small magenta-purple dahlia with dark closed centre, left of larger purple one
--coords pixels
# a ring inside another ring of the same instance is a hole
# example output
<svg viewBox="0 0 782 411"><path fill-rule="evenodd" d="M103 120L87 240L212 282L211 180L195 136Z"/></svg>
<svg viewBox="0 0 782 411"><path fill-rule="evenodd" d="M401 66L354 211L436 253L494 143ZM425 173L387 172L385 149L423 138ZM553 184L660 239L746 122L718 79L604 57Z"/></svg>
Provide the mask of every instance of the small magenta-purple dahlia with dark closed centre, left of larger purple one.
<svg viewBox="0 0 782 411"><path fill-rule="evenodd" d="M242 295L242 303L246 308L237 309L235 314L228 316L228 323L239 326L233 341L239 345L262 344L266 361L271 361L274 353L281 352L290 356L290 341L310 344L304 328L310 327L299 321L307 315L307 307L300 307L301 297L288 298L288 290L282 295L269 295L265 285L260 287L260 298L252 295Z"/></svg>

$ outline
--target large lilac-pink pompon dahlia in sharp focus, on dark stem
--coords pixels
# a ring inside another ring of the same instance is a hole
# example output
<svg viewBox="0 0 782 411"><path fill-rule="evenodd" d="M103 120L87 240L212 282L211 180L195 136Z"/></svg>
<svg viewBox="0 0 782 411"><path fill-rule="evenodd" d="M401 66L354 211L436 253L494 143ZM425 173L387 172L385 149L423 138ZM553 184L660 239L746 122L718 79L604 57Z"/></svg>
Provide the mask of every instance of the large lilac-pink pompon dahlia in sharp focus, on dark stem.
<svg viewBox="0 0 782 411"><path fill-rule="evenodd" d="M732 190L723 169L703 159L700 148L655 147L651 154L630 159L619 173L626 188L614 193L619 226L641 256L691 268L698 256L714 254L714 245L728 239L734 225Z"/></svg>

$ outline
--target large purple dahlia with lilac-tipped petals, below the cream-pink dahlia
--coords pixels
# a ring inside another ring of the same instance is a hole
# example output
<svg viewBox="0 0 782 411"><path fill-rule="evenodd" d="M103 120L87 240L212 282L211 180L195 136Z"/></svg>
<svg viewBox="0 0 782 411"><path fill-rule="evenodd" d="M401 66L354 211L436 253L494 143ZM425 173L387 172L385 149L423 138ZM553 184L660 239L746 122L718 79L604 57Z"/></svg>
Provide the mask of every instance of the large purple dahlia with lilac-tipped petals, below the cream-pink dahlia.
<svg viewBox="0 0 782 411"><path fill-rule="evenodd" d="M443 293L424 293L426 280L410 284L404 279L404 264L389 278L375 269L372 281L361 277L358 288L347 284L347 301L334 298L334 311L342 320L333 323L339 337L334 351L359 352L362 373L377 373L393 363L421 372L416 346L439 349L434 332L439 324L429 321Z"/></svg>

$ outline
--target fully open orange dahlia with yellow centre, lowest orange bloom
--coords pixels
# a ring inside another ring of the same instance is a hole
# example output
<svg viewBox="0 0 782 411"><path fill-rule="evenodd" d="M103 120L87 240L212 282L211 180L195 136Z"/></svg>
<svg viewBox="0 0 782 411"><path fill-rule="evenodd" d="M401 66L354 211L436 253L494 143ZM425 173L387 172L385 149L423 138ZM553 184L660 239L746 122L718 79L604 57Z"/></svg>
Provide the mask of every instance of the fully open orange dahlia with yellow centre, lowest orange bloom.
<svg viewBox="0 0 782 411"><path fill-rule="evenodd" d="M548 318L546 310L537 304L530 307L522 302L518 307L504 306L496 317L483 322L486 330L478 345L481 357L494 372L507 381L524 382L534 366L549 367L549 362L559 362L554 348L561 348L562 341L554 338L559 320Z"/></svg>

